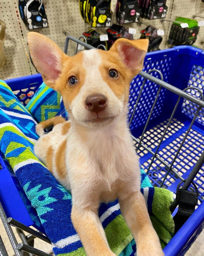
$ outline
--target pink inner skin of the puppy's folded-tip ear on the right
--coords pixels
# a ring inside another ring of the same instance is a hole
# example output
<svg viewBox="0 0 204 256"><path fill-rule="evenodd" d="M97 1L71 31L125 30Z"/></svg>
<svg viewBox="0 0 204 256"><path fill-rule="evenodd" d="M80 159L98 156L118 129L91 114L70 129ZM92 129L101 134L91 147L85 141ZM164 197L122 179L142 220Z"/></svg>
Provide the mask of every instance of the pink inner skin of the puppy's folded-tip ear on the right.
<svg viewBox="0 0 204 256"><path fill-rule="evenodd" d="M121 51L124 55L124 63L131 69L135 69L141 62L141 51L134 46L123 45Z"/></svg>

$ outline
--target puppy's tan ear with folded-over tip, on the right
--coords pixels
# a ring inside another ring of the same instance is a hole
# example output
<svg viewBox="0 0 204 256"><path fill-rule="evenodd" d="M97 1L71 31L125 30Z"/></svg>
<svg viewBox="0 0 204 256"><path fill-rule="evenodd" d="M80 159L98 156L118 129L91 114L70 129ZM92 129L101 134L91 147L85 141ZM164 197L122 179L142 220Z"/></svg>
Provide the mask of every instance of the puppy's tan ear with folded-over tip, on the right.
<svg viewBox="0 0 204 256"><path fill-rule="evenodd" d="M117 52L124 64L136 76L142 70L148 45L148 39L128 40L119 38L112 45L110 51Z"/></svg>

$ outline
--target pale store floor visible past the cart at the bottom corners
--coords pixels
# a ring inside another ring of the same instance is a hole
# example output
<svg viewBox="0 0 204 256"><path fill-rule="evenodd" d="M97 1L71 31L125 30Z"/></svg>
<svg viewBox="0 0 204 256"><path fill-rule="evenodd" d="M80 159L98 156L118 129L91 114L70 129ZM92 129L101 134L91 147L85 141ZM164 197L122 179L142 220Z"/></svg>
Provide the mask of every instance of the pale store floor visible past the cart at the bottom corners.
<svg viewBox="0 0 204 256"><path fill-rule="evenodd" d="M15 235L17 237L17 241L21 242L21 239L19 238L18 234L15 231L15 228L13 228ZM2 237L2 240L4 242L4 245L6 247L6 250L9 254L9 256L13 256L14 252L13 249L11 247L11 244L9 242L9 239L6 235L5 229L3 227L3 224L0 220L0 234ZM185 256L203 256L204 255L204 230L201 232L201 234L198 236L198 238L196 239L196 241L193 243L193 245L190 247L189 251L187 251L187 253L185 254ZM52 251L52 247L51 245L49 245L48 243L41 241L40 239L36 238L35 239L35 247L39 250L43 250L46 253L51 253Z"/></svg>

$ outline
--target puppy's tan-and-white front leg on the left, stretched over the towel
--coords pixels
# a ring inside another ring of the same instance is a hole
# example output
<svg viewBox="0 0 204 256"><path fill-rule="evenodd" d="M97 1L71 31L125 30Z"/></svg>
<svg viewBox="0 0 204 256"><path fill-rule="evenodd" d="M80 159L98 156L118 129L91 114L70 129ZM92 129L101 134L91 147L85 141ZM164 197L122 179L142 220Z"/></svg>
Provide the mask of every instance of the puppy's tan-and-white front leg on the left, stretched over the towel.
<svg viewBox="0 0 204 256"><path fill-rule="evenodd" d="M71 219L88 256L116 256L108 246L97 211L73 205Z"/></svg>

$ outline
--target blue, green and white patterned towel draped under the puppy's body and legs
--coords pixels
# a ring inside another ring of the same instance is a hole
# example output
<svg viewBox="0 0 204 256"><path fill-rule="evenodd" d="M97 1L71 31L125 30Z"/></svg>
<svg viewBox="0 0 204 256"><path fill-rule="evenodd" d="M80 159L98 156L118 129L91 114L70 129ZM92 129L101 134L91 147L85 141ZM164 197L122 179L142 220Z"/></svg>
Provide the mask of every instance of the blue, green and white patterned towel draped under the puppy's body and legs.
<svg viewBox="0 0 204 256"><path fill-rule="evenodd" d="M0 149L31 203L25 201L27 208L34 208L33 212L37 213L32 213L32 220L51 240L55 255L85 256L79 236L71 223L71 194L33 153L33 145L38 139L35 120L1 80L0 101ZM141 191L164 245L171 239L174 229L169 211L173 194L166 189L156 192L142 170ZM118 201L101 204L99 217L111 250L116 255L133 256L136 245L120 214Z"/></svg>

